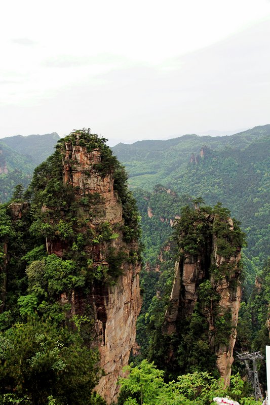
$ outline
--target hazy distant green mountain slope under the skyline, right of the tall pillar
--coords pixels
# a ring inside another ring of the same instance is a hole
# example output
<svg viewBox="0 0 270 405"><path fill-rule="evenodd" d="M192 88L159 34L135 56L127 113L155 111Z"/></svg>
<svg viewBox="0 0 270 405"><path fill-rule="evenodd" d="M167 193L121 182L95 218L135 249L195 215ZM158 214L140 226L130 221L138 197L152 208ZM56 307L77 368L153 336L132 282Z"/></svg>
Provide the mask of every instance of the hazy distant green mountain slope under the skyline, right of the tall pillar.
<svg viewBox="0 0 270 405"><path fill-rule="evenodd" d="M112 150L133 189L162 184L179 195L202 196L209 205L220 201L242 223L246 255L263 267L270 251L270 125L232 136L121 143Z"/></svg>

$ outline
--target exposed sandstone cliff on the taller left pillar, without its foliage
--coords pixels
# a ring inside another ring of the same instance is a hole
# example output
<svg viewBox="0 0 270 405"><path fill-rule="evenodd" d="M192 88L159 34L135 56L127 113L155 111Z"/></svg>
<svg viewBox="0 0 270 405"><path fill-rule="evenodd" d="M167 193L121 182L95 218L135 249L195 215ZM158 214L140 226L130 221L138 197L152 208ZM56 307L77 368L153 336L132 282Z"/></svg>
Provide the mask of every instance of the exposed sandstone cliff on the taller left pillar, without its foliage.
<svg viewBox="0 0 270 405"><path fill-rule="evenodd" d="M78 136L75 144L67 141L62 149L63 183L71 186L74 198L79 202L89 198L87 205L80 205L82 219L80 232L98 232L102 224L109 224L118 236L111 240L86 246L84 251L93 261L94 269L102 266L109 268L108 253L124 254L126 260L121 264L121 275L109 285L94 280L89 286L91 293L85 294L80 289L69 296L63 292L61 302L71 304L70 315L83 315L91 306L95 320L93 346L100 352L100 367L105 376L99 381L96 391L108 403L117 398L117 380L122 369L128 364L130 351L136 337L136 320L141 308L139 289L140 262L130 258L130 252L138 250L136 240L127 243L123 239L123 207L117 192L114 191L113 171L101 174L98 165L102 163L99 148L90 152L83 146ZM43 207L44 213L49 212ZM48 221L48 219L47 219ZM54 219L50 220L53 223ZM62 257L68 248L67 242L57 237L47 237L47 251Z"/></svg>

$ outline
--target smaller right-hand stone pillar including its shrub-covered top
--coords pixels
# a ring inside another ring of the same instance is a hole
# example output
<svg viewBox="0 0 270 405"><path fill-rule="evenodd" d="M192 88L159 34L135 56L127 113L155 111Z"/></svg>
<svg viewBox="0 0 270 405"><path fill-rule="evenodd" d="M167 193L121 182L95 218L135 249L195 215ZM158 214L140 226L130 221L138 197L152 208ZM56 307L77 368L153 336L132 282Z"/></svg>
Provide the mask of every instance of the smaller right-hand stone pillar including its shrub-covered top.
<svg viewBox="0 0 270 405"><path fill-rule="evenodd" d="M187 245L191 240L187 241L188 231L183 227L180 230L179 259L175 263L174 283L165 314L163 334L181 334L181 325L184 325L186 319L190 321L196 308L197 313L202 316L201 330L205 333L209 350L216 356L216 367L225 384L229 385L241 300L241 247L237 246L238 228L234 228L234 222L226 217L226 212L221 218L217 213L198 214L195 222L189 223L186 228L189 232L190 226L194 229L204 228L205 236L197 245L197 251L190 253L190 245ZM194 235L195 233L192 237ZM229 241L226 251L223 238ZM199 233L196 234L196 239L200 240ZM207 294L203 296L202 292L206 290ZM204 321L207 329L203 326ZM176 350L171 344L168 362L174 360Z"/></svg>

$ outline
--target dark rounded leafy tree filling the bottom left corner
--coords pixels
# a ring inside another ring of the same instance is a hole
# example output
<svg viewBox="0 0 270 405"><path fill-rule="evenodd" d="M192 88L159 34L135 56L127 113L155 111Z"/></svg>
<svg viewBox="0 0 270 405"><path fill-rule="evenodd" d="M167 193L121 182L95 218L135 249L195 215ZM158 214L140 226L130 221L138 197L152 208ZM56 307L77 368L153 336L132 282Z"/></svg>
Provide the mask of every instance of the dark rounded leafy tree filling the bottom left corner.
<svg viewBox="0 0 270 405"><path fill-rule="evenodd" d="M0 403L46 405L52 396L58 404L91 404L97 359L67 328L37 318L16 323L0 334Z"/></svg>

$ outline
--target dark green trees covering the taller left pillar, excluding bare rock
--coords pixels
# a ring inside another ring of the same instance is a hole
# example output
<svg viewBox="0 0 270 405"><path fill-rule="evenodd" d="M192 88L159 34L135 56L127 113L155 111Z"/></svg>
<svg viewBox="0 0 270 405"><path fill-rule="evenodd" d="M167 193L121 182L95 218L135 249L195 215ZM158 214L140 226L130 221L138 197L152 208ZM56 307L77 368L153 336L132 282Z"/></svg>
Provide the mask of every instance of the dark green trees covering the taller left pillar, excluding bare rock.
<svg viewBox="0 0 270 405"><path fill-rule="evenodd" d="M91 289L97 285L106 291L122 273L124 261L138 260L140 232L127 175L105 141L89 130L72 132L34 170L28 190L18 184L11 203L0 207L3 405L104 403L92 394L101 371L92 348ZM66 142L79 143L87 153L99 150L100 163L93 165L93 173L114 179L123 222L111 225L103 219L99 193L63 181ZM96 261L98 251L103 259ZM75 315L74 291L84 300L83 310Z"/></svg>

